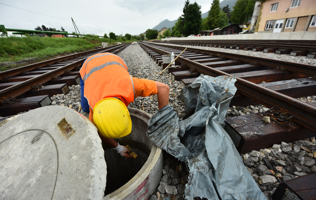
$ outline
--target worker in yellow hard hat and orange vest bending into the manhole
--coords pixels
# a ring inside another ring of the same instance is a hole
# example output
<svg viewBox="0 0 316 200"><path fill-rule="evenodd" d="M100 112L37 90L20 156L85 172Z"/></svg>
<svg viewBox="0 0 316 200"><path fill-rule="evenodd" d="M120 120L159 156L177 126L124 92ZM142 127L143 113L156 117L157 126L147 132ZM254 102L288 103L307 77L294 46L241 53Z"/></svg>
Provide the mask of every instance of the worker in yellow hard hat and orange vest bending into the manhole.
<svg viewBox="0 0 316 200"><path fill-rule="evenodd" d="M124 158L132 158L129 149L113 138L131 133L131 117L127 110L136 97L157 94L158 108L169 103L169 86L157 81L132 77L126 63L112 53L99 53L85 60L80 69L81 105L89 112L89 120L98 129L103 142Z"/></svg>

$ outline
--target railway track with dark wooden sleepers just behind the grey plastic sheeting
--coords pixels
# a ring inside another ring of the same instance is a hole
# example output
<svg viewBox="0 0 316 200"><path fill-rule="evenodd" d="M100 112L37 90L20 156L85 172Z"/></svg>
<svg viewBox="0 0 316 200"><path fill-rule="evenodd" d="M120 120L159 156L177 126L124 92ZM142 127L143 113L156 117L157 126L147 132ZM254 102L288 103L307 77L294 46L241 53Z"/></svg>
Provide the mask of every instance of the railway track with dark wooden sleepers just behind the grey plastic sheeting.
<svg viewBox="0 0 316 200"><path fill-rule="evenodd" d="M162 69L168 65L163 63L162 54L174 52L177 56L185 48L149 42L140 42L139 44L157 64L162 66ZM316 132L316 104L308 104L295 99L315 95L316 79L313 76L316 74L316 66L197 48L188 48L182 53L176 61L176 66L178 67L168 68L167 72L171 72L173 81L181 81L182 85L191 84L201 73L213 77L235 75L237 79L235 86L238 90L230 105L247 106L261 103L271 108L264 115L270 116L271 121L274 122L270 124L275 125L271 128L277 129L273 131L280 135L277 140L284 141L286 136L288 141L296 141L312 137ZM249 116L251 117L251 115ZM258 115L257 118L260 118L258 123L262 124L262 116ZM252 120L250 117L247 120ZM237 118L231 123L247 121L246 118L239 121ZM301 126L290 127L293 124L300 124ZM255 123L251 125L256 130L258 129ZM245 124L241 126L245 126ZM307 129L302 129L302 127ZM231 127L231 129L235 128ZM267 132L265 129L257 131ZM292 131L291 134L287 133L289 131ZM241 138L235 145L240 153L249 150L245 149L246 146L253 148L264 138L269 138L267 135L263 138L258 136L260 133L258 135L252 134L255 133L254 130L251 130L250 133L249 135L239 134ZM252 141L253 144L248 145L246 144L247 137L261 138L258 142ZM267 142L269 143L271 140ZM240 141L243 141L244 144L240 144ZM267 142L257 145L256 148L268 146ZM278 141L274 138L273 142L275 144ZM238 145L241 145L240 148Z"/></svg>

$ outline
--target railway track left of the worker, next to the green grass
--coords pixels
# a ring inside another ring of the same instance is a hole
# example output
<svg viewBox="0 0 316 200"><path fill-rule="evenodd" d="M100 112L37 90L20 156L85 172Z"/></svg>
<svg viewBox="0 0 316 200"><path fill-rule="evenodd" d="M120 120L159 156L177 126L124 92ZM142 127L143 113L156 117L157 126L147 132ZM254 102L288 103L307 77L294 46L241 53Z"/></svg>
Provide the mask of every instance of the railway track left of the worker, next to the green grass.
<svg viewBox="0 0 316 200"><path fill-rule="evenodd" d="M117 54L131 43L94 49L0 72L0 116L43 107L50 97L69 92L68 86L80 83L79 70L89 56Z"/></svg>

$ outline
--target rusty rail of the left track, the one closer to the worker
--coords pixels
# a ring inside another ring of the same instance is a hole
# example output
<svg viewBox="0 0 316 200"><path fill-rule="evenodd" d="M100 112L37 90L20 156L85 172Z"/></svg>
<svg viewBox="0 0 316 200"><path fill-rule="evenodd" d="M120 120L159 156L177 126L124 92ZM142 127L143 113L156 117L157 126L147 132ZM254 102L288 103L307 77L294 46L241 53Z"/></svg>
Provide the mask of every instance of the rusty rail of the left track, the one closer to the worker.
<svg viewBox="0 0 316 200"><path fill-rule="evenodd" d="M102 51L100 53L106 53L109 51L113 51L113 50L118 49L119 47L124 47L124 46L130 45L130 44L131 43L126 43L126 44L122 44L122 45L115 46L115 47L111 46L112 48L107 48L105 51ZM19 84L15 84L15 85L12 85L6 89L3 89L0 91L0 99L2 100L2 99L6 99L8 97L17 97L17 96L31 90L31 86L33 86L33 84L46 83L46 82L52 80L52 76L62 75L62 74L64 74L64 71L74 69L77 64L82 65L82 63L85 61L85 59L87 59L87 58L80 59L80 60L75 61L73 63L70 63L68 65L59 67L59 68L52 70L50 72L46 72L46 73L41 74L39 76L36 76L34 78L30 78L28 80L25 80Z"/></svg>

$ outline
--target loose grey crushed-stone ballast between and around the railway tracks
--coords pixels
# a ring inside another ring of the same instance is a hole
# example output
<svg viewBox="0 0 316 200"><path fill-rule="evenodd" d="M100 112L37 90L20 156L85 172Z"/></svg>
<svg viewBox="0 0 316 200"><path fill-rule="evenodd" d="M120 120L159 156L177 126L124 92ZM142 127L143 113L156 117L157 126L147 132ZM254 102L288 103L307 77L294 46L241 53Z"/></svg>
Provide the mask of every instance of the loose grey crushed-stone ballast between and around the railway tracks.
<svg viewBox="0 0 316 200"><path fill-rule="evenodd" d="M196 48L205 48L211 50L216 49L221 51L228 50L227 52L238 51L238 53L241 54L243 52L261 53L263 55L266 54L265 56L268 54L269 56L272 56L271 54L274 54L223 48L212 49L212 47ZM261 56L261 54L257 55ZM163 75L159 75L161 67L158 66L139 45L130 45L118 55L125 60L128 71L133 77L147 78L167 84L170 87L169 103L172 104L174 109L177 111L180 119L184 116L184 104L180 100L176 99L182 89L180 82L171 81L171 74L167 74L166 72L164 72ZM278 54L274 55L281 57L289 56ZM298 61L298 59L302 58L295 57L295 59ZM315 64L314 59L312 63ZM78 111L80 105L80 84L69 86L69 89L70 92L66 95L54 95L54 97L51 98L53 101L52 105L67 106ZM316 101L316 96L301 97L297 99L306 103L311 103ZM150 115L153 115L158 110L157 95L150 97L137 97L134 102L129 104L129 107L142 109L145 112L148 112ZM261 104L246 107L236 105L228 108L226 117L266 112L268 109L269 108L266 108ZM87 113L83 113L82 111L80 113L88 116ZM295 141L293 143L282 142L282 144L275 144L267 149L260 149L258 151L241 154L241 158L248 171L252 174L252 177L258 184L259 188L264 192L266 197L270 199L270 196L281 182L295 178L297 176L305 175L307 173L316 172L315 137L302 141ZM175 159L173 156L166 154L161 182L155 194L149 199L161 200L167 196L173 200L184 199L184 186L187 183L188 175L189 172L185 168L184 163Z"/></svg>

